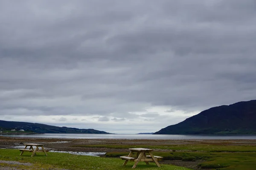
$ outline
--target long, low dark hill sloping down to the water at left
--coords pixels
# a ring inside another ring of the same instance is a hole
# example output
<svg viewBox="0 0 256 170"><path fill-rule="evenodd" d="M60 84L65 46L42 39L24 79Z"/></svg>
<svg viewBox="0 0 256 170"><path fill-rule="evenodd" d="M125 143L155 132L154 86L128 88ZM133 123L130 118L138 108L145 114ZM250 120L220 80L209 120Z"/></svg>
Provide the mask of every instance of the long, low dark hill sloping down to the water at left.
<svg viewBox="0 0 256 170"><path fill-rule="evenodd" d="M58 127L45 125L40 123L30 123L30 122L10 122L0 120L0 129L5 130L25 130L34 133L95 133L95 134L110 134L105 131L99 131L94 129L79 129L73 127ZM0 130L1 131L1 130Z"/></svg>

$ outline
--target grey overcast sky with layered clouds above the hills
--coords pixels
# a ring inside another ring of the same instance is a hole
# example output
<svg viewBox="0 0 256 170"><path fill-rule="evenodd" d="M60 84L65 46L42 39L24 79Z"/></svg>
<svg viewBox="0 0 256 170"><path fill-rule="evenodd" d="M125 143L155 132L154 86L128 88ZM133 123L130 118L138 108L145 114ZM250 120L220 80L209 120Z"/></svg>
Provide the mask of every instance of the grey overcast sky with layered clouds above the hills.
<svg viewBox="0 0 256 170"><path fill-rule="evenodd" d="M156 132L256 99L255 0L0 0L0 119Z"/></svg>

